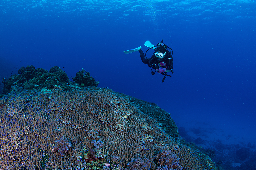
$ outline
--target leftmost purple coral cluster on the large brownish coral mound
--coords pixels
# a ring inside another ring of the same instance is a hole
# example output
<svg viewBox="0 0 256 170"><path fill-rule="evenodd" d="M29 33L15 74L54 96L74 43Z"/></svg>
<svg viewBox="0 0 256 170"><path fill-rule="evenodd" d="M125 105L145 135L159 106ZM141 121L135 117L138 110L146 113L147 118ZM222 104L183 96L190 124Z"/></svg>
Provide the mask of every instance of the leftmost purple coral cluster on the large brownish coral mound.
<svg viewBox="0 0 256 170"><path fill-rule="evenodd" d="M56 141L52 151L53 153L58 152L61 156L65 156L65 153L68 152L71 146L71 142L67 138L62 137Z"/></svg>

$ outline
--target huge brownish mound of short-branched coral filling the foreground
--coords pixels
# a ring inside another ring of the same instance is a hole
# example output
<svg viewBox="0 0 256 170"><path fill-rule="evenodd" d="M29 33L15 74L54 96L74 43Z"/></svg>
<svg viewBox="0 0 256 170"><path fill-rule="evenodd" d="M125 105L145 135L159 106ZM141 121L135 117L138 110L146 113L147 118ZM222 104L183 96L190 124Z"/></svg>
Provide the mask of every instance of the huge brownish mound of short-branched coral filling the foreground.
<svg viewBox="0 0 256 170"><path fill-rule="evenodd" d="M148 103L105 88L43 93L16 86L0 99L0 167L156 170L170 163L173 169L217 170L179 138L174 122L160 123L171 120L166 112L141 105Z"/></svg>

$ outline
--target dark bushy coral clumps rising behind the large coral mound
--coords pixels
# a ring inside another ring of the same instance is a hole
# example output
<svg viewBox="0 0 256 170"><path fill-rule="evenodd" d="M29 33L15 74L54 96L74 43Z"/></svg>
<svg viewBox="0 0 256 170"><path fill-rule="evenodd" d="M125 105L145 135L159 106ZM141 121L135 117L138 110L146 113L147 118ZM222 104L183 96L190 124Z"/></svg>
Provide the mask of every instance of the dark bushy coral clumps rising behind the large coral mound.
<svg viewBox="0 0 256 170"><path fill-rule="evenodd" d="M50 68L49 72L43 68L35 69L34 66L21 67L18 70L18 75L12 75L2 82L4 84L3 94L7 94L12 91L14 86L23 87L27 90L55 90L60 89L64 91L71 91L86 86L97 87L99 81L95 81L90 76L89 72L84 74L85 70L79 70L74 77L75 83L68 79L66 72L57 66ZM83 86L81 86L81 82Z"/></svg>

